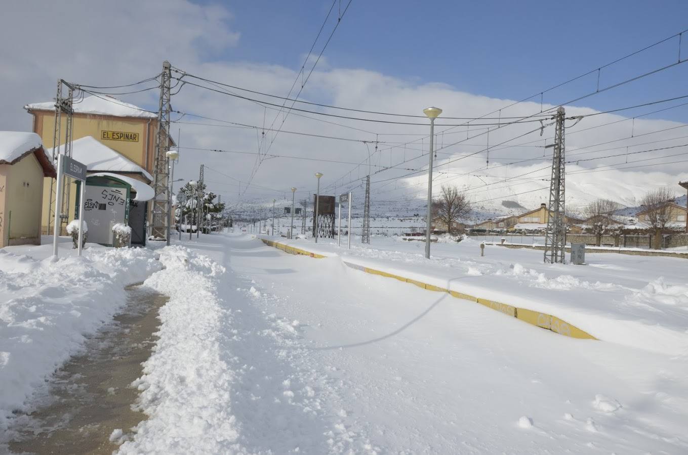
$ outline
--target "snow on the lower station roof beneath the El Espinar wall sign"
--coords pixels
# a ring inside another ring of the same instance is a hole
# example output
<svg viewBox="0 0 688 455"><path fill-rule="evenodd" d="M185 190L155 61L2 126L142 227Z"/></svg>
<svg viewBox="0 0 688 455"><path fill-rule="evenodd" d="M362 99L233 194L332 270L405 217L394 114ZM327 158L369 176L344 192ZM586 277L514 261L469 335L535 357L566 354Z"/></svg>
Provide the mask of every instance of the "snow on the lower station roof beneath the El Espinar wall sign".
<svg viewBox="0 0 688 455"><path fill-rule="evenodd" d="M58 147L59 150L63 148L64 144ZM52 156L52 148L47 153ZM149 181L153 181L153 176L147 170L98 142L93 136L85 136L72 142L72 158L85 164L86 170L90 172L142 173Z"/></svg>

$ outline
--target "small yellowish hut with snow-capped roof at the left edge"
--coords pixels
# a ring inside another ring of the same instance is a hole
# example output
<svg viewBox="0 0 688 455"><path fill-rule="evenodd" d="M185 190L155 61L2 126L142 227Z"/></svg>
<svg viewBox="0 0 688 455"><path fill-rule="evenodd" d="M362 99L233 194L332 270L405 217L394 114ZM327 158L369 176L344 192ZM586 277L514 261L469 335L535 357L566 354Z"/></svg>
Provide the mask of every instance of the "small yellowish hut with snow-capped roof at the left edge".
<svg viewBox="0 0 688 455"><path fill-rule="evenodd" d="M41 245L44 177L56 177L56 170L41 137L0 131L0 247Z"/></svg>

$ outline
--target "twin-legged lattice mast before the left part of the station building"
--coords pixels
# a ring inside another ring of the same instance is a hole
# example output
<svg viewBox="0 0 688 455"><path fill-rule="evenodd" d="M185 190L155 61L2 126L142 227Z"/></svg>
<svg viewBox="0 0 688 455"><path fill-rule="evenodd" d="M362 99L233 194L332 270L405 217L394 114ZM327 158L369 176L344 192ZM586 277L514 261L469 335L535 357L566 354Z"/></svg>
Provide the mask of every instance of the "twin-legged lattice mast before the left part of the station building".
<svg viewBox="0 0 688 455"><path fill-rule="evenodd" d="M67 97L65 98L62 93L63 85L67 86ZM57 94L55 96L55 129L52 138L52 161L53 165L57 166L57 155L60 155L60 146L62 142L62 114L67 115L67 121L65 122L65 148L63 154L68 157L72 157L72 120L74 114L74 109L72 109L72 101L74 100L74 90L75 85L69 84L65 80L58 79L57 81ZM68 177L63 177L67 179ZM62 186L61 198L57 197L57 180L50 180L50 201L48 202L48 217L47 217L47 232L50 234L50 223L51 221L55 224L60 224L58 226L58 232L61 232L62 223L66 223L69 219L69 187L71 185L65 184ZM60 199L61 207L57 210L57 202ZM61 219L55 219L56 213L61 212Z"/></svg>

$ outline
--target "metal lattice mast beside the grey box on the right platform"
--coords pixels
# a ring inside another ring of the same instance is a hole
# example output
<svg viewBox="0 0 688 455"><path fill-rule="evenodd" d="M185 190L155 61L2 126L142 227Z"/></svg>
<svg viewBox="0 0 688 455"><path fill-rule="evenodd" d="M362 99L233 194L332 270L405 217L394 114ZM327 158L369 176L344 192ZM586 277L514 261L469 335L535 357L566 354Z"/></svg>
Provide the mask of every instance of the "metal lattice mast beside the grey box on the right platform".
<svg viewBox="0 0 688 455"><path fill-rule="evenodd" d="M545 237L546 263L564 263L566 250L566 206L564 170L564 109L559 107L555 115L555 143L552 154L552 178L550 179L550 205L547 217L547 232Z"/></svg>

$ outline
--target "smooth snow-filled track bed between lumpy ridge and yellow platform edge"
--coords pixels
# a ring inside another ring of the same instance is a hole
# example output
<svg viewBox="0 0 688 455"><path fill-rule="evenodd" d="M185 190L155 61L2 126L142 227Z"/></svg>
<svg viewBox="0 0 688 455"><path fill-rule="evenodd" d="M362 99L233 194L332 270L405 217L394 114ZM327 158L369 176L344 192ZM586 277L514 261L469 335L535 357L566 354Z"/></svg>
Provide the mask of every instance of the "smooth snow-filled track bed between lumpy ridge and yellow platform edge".
<svg viewBox="0 0 688 455"><path fill-rule="evenodd" d="M184 245L244 296L228 304L248 452L688 450L685 356L568 339L246 235Z"/></svg>

